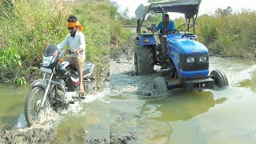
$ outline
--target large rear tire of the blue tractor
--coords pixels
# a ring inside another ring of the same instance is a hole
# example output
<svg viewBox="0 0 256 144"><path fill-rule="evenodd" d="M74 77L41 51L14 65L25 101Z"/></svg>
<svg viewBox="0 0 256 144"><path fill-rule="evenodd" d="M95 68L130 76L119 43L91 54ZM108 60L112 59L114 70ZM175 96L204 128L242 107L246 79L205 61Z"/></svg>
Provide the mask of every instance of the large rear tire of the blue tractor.
<svg viewBox="0 0 256 144"><path fill-rule="evenodd" d="M134 66L137 75L151 74L154 71L154 58L150 46L136 46Z"/></svg>

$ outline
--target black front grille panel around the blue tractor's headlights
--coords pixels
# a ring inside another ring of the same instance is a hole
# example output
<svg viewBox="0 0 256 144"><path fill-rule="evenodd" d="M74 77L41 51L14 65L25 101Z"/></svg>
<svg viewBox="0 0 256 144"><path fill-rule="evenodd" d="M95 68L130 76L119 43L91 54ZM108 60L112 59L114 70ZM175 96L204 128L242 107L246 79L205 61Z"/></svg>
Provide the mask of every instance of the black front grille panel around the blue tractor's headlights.
<svg viewBox="0 0 256 144"><path fill-rule="evenodd" d="M186 58L194 58L194 62L186 62ZM200 57L206 57L206 62L199 62ZM178 67L184 71L208 70L209 56L208 54L180 54Z"/></svg>

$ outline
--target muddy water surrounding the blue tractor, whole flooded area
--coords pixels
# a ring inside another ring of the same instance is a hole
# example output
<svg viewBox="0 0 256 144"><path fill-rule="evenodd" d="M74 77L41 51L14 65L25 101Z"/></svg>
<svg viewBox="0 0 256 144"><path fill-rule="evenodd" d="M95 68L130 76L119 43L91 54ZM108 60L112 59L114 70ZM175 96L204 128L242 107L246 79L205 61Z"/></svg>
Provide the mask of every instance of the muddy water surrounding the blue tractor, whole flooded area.
<svg viewBox="0 0 256 144"><path fill-rule="evenodd" d="M236 58L210 58L230 86L218 90L154 94L153 79L133 76L133 62L110 63L110 129L117 137L135 134L131 143L255 143L256 66ZM255 81L255 82L254 82Z"/></svg>

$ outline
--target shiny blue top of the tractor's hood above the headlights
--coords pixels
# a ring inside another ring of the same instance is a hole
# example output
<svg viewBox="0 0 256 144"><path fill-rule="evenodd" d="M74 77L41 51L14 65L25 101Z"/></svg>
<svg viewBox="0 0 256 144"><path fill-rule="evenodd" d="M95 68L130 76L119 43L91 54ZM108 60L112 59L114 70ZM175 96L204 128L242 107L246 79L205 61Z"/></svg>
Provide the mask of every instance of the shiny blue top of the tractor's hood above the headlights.
<svg viewBox="0 0 256 144"><path fill-rule="evenodd" d="M168 40L169 45L179 49L182 54L208 54L208 49L202 43L187 39L187 38L175 38ZM169 47L169 46L168 46Z"/></svg>

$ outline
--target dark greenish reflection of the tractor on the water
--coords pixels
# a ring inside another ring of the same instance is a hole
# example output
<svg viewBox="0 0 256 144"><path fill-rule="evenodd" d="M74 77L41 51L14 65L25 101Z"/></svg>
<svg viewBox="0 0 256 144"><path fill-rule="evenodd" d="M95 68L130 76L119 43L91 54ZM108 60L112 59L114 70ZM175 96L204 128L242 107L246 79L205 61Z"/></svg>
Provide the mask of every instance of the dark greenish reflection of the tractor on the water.
<svg viewBox="0 0 256 144"><path fill-rule="evenodd" d="M159 122L186 121L214 107L214 95L210 91L178 93L169 98L146 101L141 114Z"/></svg>

